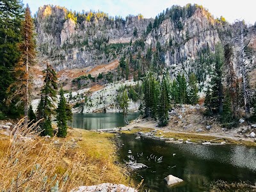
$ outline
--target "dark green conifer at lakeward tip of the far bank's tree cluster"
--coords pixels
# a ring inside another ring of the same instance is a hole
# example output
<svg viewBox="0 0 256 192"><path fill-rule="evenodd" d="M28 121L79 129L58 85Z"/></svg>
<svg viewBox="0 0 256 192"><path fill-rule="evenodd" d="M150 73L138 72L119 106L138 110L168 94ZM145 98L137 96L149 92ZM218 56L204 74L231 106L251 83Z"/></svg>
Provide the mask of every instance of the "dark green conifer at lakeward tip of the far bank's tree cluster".
<svg viewBox="0 0 256 192"><path fill-rule="evenodd" d="M168 124L168 109L170 106L170 99L168 94L168 85L166 82L166 78L163 77L161 82L161 90L159 97L159 106L158 106L158 120L159 126L163 127Z"/></svg>

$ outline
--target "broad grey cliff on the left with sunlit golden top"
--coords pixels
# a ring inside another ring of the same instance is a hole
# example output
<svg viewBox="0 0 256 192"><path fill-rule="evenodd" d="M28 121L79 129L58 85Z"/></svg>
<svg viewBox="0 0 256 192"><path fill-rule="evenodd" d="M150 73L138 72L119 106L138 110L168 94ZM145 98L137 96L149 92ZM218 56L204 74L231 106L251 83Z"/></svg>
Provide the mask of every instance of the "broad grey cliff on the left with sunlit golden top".
<svg viewBox="0 0 256 192"><path fill-rule="evenodd" d="M38 10L35 20L38 52L49 59L57 71L115 60L122 50L108 52L108 44L125 47L134 38L134 28L141 36L152 20L140 16L113 19L92 12L80 15L78 22L76 19L76 16L69 17L67 9L60 6L46 5Z"/></svg>

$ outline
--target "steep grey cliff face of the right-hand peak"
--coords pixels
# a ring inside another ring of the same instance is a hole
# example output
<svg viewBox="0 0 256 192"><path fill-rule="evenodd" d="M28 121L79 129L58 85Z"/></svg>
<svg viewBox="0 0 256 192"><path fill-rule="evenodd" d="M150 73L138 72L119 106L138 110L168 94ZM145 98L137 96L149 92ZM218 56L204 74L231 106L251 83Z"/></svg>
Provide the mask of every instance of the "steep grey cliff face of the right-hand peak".
<svg viewBox="0 0 256 192"><path fill-rule="evenodd" d="M163 20L146 38L147 47L156 47L157 42L165 47L164 64L176 76L179 72L207 72L207 66L204 63L199 66L197 59L200 52L213 52L220 38L214 19L203 8L196 8L191 17Z"/></svg>

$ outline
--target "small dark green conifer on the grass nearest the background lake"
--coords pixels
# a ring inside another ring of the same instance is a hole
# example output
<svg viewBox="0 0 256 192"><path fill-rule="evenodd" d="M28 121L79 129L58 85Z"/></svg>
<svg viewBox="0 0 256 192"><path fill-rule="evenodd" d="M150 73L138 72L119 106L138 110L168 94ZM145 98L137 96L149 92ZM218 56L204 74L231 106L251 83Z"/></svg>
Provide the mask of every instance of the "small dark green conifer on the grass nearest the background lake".
<svg viewBox="0 0 256 192"><path fill-rule="evenodd" d="M71 112L71 113L70 113ZM58 124L57 136L65 138L67 136L67 121L72 119L72 111L70 111L67 100L64 96L63 89L60 90L60 100L58 102L58 108L56 109L56 119Z"/></svg>

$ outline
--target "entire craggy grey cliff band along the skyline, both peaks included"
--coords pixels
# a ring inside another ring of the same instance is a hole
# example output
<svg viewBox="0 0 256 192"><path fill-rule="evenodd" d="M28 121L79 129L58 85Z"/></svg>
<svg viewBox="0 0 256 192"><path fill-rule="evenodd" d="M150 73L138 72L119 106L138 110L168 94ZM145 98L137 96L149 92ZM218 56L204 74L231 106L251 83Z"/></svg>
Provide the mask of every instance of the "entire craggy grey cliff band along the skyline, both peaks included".
<svg viewBox="0 0 256 192"><path fill-rule="evenodd" d="M202 6L173 6L156 19L140 15L114 19L102 12L74 15L66 8L47 5L39 8L35 26L40 58L48 59L57 71L110 63L128 50L136 56L138 50L131 42L140 40L144 58L152 49L171 76L194 72L203 85L209 80L209 60L215 45L232 42L234 68L239 75L239 41L234 39L241 25L214 19ZM246 30L246 38L256 47L255 28ZM154 63L153 54L149 62Z"/></svg>

